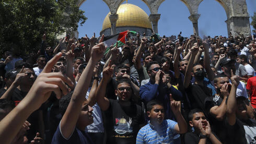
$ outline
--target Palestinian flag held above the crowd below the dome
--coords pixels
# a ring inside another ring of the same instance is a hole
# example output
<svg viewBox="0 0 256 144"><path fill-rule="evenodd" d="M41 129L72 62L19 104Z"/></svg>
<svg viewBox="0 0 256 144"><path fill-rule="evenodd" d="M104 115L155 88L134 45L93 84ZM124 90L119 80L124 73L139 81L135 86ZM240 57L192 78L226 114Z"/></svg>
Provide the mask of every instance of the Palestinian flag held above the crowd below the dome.
<svg viewBox="0 0 256 144"><path fill-rule="evenodd" d="M125 38L127 35L128 31L124 31L124 32L120 32L117 34L113 34L113 35L109 35L109 36L105 36L103 39L103 43L105 46L107 46L107 49L105 51L105 54L107 54L110 50L110 45L113 44L113 46L115 46L118 42L118 46L123 46L125 44ZM130 31L130 33L136 34L136 31Z"/></svg>

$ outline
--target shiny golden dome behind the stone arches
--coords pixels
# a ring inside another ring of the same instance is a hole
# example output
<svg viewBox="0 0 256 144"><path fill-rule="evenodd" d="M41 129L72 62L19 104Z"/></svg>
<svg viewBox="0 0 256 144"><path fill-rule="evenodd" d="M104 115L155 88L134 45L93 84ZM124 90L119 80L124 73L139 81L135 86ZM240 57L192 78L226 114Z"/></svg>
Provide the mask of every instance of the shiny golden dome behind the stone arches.
<svg viewBox="0 0 256 144"><path fill-rule="evenodd" d="M105 17L102 30L111 28L109 14ZM118 20L116 27L131 26L152 29L152 23L148 19L148 15L143 9L133 4L122 4L119 6Z"/></svg>

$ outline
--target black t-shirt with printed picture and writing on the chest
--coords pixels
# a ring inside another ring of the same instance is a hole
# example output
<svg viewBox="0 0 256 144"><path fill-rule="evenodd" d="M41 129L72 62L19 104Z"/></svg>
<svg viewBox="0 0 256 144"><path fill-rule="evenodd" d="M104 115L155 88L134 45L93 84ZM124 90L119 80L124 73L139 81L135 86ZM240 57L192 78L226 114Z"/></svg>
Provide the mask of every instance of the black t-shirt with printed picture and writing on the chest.
<svg viewBox="0 0 256 144"><path fill-rule="evenodd" d="M118 100L109 99L109 109L105 111L107 143L135 143L138 130L144 124L142 107L131 103L120 105Z"/></svg>

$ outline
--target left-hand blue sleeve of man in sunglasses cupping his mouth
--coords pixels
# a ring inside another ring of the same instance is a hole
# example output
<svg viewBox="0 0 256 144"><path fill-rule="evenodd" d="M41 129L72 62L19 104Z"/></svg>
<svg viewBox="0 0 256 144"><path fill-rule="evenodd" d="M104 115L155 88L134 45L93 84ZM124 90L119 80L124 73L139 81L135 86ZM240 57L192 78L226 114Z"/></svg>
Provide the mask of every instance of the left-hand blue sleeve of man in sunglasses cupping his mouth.
<svg viewBox="0 0 256 144"><path fill-rule="evenodd" d="M146 102L153 100L157 94L158 86L159 85L157 84L154 84L154 85L146 84L141 86L141 88L139 88L139 96L141 96L141 98Z"/></svg>

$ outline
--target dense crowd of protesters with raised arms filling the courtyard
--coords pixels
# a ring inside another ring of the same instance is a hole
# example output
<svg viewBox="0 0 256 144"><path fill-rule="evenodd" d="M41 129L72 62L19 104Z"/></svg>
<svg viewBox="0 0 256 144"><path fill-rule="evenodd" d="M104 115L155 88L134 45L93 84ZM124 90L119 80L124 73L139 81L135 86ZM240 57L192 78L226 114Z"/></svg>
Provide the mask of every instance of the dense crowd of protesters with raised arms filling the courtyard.
<svg viewBox="0 0 256 144"><path fill-rule="evenodd" d="M131 36L6 51L1 143L256 143L256 38Z"/></svg>

